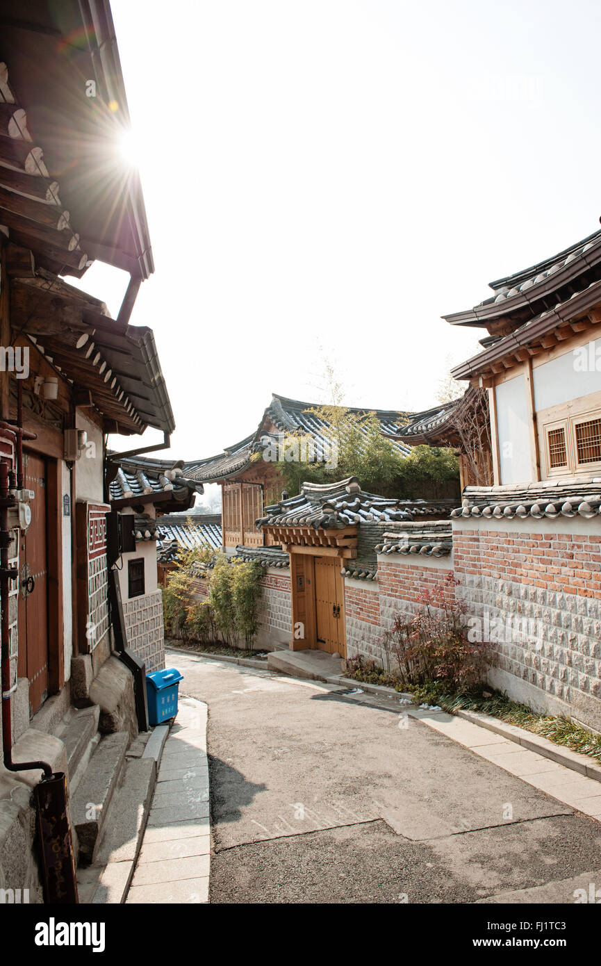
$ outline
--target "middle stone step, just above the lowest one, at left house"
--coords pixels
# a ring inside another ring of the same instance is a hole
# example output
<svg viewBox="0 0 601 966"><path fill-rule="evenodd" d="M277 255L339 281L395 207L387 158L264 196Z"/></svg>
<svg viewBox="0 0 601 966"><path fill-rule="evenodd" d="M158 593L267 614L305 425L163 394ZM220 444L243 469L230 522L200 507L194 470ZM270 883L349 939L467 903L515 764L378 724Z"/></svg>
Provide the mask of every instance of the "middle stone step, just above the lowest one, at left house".
<svg viewBox="0 0 601 966"><path fill-rule="evenodd" d="M128 745L128 731L116 731L101 738L72 797L72 823L79 843L80 865L89 866L94 861Z"/></svg>

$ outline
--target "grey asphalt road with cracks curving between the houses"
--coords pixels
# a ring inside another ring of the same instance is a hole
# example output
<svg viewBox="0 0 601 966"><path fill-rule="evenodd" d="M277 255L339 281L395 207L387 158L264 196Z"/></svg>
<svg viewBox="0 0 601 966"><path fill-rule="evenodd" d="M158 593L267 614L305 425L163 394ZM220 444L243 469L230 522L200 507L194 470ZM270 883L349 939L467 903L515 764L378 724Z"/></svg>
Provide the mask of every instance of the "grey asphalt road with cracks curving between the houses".
<svg viewBox="0 0 601 966"><path fill-rule="evenodd" d="M209 705L212 902L475 902L601 867L600 824L397 699L169 661Z"/></svg>

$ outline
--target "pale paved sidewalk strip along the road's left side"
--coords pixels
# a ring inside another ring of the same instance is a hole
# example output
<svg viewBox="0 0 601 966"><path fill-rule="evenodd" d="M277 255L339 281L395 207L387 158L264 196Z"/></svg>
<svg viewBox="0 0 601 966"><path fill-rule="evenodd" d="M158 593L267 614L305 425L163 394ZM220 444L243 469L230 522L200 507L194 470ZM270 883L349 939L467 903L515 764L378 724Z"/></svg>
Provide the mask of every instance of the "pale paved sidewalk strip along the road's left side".
<svg viewBox="0 0 601 966"><path fill-rule="evenodd" d="M181 697L127 902L208 902L207 705Z"/></svg>

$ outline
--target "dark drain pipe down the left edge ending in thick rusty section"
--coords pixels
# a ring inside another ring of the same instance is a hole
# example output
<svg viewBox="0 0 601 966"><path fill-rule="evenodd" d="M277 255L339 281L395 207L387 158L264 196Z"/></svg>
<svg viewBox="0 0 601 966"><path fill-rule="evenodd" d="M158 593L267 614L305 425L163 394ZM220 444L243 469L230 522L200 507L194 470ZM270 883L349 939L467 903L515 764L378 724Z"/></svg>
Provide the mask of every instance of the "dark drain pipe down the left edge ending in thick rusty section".
<svg viewBox="0 0 601 966"><path fill-rule="evenodd" d="M20 427L16 432L6 423L0 423L0 432L15 443L17 454L17 480L22 485L22 439L33 434ZM16 505L16 497L10 492L9 468L0 461L0 665L2 680L2 745L4 767L9 772L41 769L43 777L35 787L36 825L42 846L44 899L48 903L78 902L72 830L69 815L67 776L65 772L52 773L47 761L13 761L13 715L11 696L16 683L11 685L11 652L9 644L9 581L14 581L17 570L9 567L9 547L13 536L8 528L9 508Z"/></svg>

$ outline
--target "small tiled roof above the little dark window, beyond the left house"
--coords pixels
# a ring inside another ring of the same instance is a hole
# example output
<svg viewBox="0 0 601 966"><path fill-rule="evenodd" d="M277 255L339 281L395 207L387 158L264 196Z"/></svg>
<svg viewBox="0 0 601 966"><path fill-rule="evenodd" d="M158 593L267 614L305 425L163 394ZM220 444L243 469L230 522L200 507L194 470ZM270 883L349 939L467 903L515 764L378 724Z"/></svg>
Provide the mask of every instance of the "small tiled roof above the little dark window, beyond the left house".
<svg viewBox="0 0 601 966"><path fill-rule="evenodd" d="M147 497L161 494L176 503L190 503L194 493L203 493L197 480L190 480L182 473L182 462L173 460L146 460L143 457L118 460L118 454L108 454L107 463L114 477L109 483L111 502L131 497ZM146 499L144 499L146 497ZM150 500L152 502L152 500Z"/></svg>

